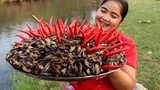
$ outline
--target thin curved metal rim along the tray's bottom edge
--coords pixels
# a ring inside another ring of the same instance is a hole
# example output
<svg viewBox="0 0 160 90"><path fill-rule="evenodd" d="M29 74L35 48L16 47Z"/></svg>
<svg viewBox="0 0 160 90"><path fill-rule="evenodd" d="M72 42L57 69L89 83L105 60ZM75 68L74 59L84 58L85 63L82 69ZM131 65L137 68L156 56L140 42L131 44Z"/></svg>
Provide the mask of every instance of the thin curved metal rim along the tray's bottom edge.
<svg viewBox="0 0 160 90"><path fill-rule="evenodd" d="M119 69L119 68L118 68ZM84 77L53 77L53 76L39 76L39 75L34 75L34 74L30 74L30 73L26 73L26 72L22 72L19 71L27 76L33 77L33 78L38 78L38 79L42 79L42 80L50 80L50 81L83 81L83 80L89 80L89 79L93 79L93 78L101 78L106 76L109 73L115 72L118 69L114 69L114 70L110 70L108 72L99 74L99 75L88 75L88 76L84 76Z"/></svg>

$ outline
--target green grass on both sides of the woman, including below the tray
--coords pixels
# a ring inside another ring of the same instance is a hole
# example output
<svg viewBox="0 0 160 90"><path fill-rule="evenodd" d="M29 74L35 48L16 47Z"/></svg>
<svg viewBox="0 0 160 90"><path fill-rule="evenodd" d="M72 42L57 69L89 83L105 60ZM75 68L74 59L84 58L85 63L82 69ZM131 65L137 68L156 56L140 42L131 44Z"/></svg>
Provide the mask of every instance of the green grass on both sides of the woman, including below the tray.
<svg viewBox="0 0 160 90"><path fill-rule="evenodd" d="M130 10L122 29L138 49L137 82L149 90L160 88L160 1L128 0ZM14 72L13 90L61 90L67 83L33 79Z"/></svg>

